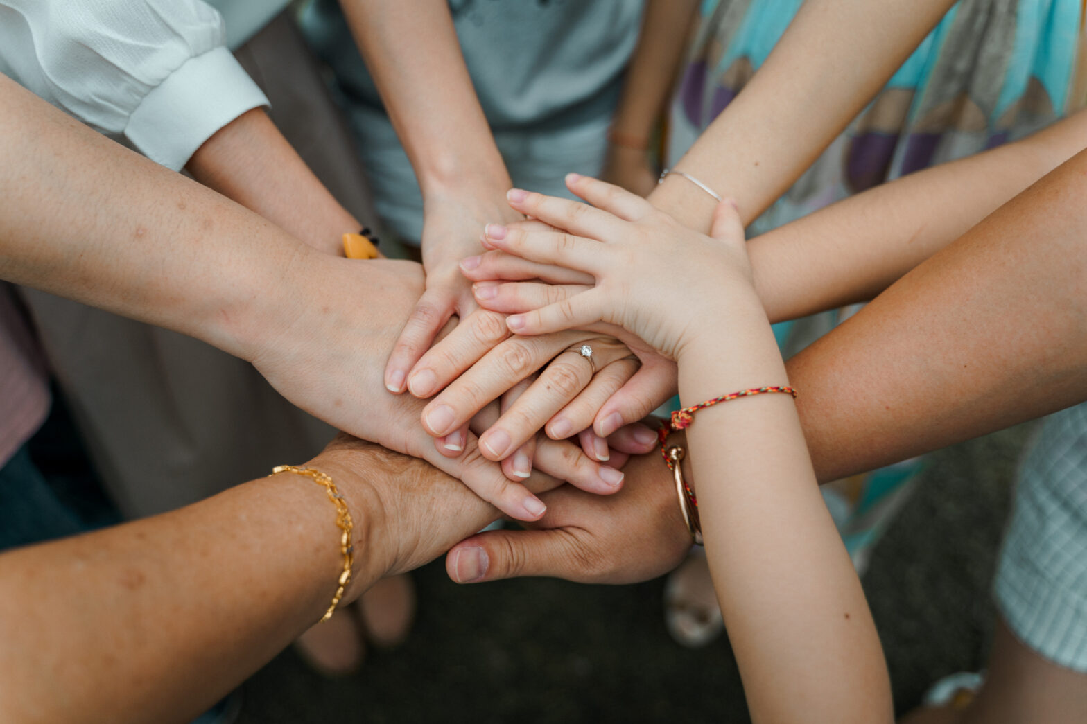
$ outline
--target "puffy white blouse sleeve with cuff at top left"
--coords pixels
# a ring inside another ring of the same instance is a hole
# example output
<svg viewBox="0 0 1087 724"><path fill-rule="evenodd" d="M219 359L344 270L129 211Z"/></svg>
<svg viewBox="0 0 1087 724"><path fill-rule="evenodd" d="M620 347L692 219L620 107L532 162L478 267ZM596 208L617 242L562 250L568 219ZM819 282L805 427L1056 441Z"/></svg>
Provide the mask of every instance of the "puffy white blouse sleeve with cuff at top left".
<svg viewBox="0 0 1087 724"><path fill-rule="evenodd" d="M175 171L267 105L225 39L200 0L0 0L0 73Z"/></svg>

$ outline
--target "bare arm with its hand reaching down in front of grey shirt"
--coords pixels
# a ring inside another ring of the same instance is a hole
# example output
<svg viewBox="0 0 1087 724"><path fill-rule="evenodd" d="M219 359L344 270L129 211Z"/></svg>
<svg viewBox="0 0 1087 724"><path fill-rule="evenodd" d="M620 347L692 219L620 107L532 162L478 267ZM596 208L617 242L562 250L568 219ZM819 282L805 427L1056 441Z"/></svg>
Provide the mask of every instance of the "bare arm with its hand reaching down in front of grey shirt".
<svg viewBox="0 0 1087 724"><path fill-rule="evenodd" d="M516 217L504 202L510 175L445 0L340 4L423 191L427 292L385 371L386 386L402 392L408 372L450 315L477 309L457 264L479 251L479 229L491 216Z"/></svg>

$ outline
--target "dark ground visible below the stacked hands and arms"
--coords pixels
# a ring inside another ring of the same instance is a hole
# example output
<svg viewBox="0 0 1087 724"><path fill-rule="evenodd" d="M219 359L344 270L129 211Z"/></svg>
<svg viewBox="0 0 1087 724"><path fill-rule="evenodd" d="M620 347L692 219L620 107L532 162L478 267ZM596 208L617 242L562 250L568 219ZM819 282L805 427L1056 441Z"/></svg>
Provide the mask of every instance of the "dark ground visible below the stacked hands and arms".
<svg viewBox="0 0 1087 724"><path fill-rule="evenodd" d="M936 678L984 665L990 581L1028 432L935 453L873 552L863 583L900 712ZM415 581L418 619L403 646L371 649L338 681L288 650L246 684L241 724L748 721L727 641L689 651L669 638L663 579L462 587L439 561Z"/></svg>

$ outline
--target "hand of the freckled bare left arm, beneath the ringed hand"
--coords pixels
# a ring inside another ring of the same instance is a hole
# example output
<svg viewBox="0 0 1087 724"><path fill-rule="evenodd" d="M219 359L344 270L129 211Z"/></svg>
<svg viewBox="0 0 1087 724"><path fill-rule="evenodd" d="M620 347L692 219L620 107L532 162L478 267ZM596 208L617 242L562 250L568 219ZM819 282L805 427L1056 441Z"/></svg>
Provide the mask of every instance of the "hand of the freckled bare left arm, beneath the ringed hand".
<svg viewBox="0 0 1087 724"><path fill-rule="evenodd" d="M418 424L423 403L384 389L380 363L396 334L389 321L404 319L418 299L418 264L352 261L299 247L280 284L282 303L267 305L242 344L245 358L284 397L352 435L427 460L512 517L544 513L535 496L479 454L474 435L467 436L463 454L441 455ZM537 469L565 479L585 462L564 449Z"/></svg>

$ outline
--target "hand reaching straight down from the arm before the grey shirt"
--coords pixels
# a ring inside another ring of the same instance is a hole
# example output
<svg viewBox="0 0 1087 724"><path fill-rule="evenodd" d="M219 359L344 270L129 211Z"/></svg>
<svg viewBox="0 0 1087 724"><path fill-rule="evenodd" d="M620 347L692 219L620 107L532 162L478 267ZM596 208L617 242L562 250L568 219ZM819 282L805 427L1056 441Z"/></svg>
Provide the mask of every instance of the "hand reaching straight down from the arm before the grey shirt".
<svg viewBox="0 0 1087 724"><path fill-rule="evenodd" d="M479 235L492 219L509 222L522 219L498 194L491 202L428 198L424 203L423 267L426 292L408 317L385 366L385 386L395 394L404 391L408 373L429 349L438 330L453 314L466 317L478 309L472 285L460 273L460 261L483 250Z"/></svg>

